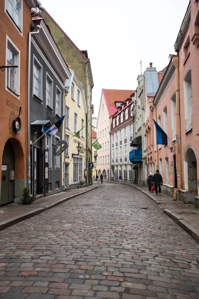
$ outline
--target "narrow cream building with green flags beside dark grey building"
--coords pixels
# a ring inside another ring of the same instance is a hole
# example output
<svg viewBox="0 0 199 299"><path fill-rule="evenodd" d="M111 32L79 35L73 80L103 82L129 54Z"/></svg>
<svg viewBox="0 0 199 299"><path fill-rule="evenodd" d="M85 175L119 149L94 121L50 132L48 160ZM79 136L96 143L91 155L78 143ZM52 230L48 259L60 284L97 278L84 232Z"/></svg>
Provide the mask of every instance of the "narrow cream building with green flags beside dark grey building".
<svg viewBox="0 0 199 299"><path fill-rule="evenodd" d="M71 69L70 69L71 70ZM63 184L65 189L80 187L86 184L86 114L87 105L85 90L82 83L71 70L71 82L68 94L65 96L65 132L63 140L68 142L68 148L63 154ZM67 85L67 84L66 84ZM84 127L83 130L81 130ZM80 131L80 138L75 134ZM78 143L81 149L78 154Z"/></svg>

